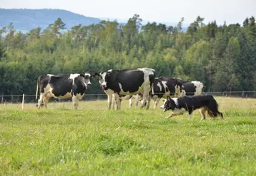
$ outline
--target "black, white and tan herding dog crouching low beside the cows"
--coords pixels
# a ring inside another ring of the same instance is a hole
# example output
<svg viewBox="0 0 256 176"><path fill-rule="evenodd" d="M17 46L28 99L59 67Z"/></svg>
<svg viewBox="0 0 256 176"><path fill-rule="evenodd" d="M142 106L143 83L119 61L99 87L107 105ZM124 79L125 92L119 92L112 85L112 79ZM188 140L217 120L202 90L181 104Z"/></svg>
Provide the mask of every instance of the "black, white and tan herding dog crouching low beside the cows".
<svg viewBox="0 0 256 176"><path fill-rule="evenodd" d="M212 95L195 95L195 96L182 96L179 98L167 98L164 100L164 105L160 108L172 110L173 113L166 118L172 118L175 115L182 115L185 112L189 113L189 119L192 118L192 113L196 109L200 109L202 120L205 120L205 111L208 112L210 117L217 117L220 115L223 119L222 113L218 110L218 104Z"/></svg>

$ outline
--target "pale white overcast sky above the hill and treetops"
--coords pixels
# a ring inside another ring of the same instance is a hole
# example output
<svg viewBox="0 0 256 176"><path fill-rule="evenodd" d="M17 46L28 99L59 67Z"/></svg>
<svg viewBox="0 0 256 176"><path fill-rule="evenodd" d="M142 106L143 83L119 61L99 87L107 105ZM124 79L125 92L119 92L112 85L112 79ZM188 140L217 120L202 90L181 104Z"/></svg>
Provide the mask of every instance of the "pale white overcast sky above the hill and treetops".
<svg viewBox="0 0 256 176"><path fill-rule="evenodd" d="M190 24L197 16L205 23L240 23L256 16L256 0L0 0L4 9L64 9L84 16L127 20L134 14L144 21Z"/></svg>

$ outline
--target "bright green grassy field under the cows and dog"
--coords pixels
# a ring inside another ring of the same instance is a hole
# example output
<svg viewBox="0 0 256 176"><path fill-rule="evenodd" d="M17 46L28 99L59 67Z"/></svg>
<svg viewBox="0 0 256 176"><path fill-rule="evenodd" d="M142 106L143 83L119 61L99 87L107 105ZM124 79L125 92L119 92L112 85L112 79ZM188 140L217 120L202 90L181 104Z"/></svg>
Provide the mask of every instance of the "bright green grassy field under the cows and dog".
<svg viewBox="0 0 256 176"><path fill-rule="evenodd" d="M224 120L128 100L0 105L0 175L256 175L256 100L217 101Z"/></svg>

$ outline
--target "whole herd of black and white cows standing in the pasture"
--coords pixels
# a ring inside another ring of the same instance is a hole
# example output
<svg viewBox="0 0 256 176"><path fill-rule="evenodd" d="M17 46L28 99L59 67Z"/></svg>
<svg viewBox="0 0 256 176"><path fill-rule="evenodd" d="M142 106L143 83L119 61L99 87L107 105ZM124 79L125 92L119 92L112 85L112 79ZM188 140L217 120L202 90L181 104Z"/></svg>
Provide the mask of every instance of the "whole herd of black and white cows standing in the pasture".
<svg viewBox="0 0 256 176"><path fill-rule="evenodd" d="M36 99L38 90L40 98L37 107L47 107L49 98L72 98L74 109L77 109L90 79L98 77L99 84L108 96L108 108L121 108L121 101L129 99L129 108L132 108L132 97L135 97L136 107L149 108L150 100L154 100L154 108L161 98L179 97L184 95L200 95L203 83L200 81L182 81L180 78L155 77L152 68L137 68L124 70L109 70L100 73L41 75L37 79Z"/></svg>

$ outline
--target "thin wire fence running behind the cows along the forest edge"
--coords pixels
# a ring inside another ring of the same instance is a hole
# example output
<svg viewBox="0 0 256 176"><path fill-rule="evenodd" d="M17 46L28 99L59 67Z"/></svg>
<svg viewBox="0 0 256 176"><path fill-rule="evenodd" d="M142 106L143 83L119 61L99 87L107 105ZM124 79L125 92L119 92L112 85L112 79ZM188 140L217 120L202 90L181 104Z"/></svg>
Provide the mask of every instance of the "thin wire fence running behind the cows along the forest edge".
<svg viewBox="0 0 256 176"><path fill-rule="evenodd" d="M237 98L256 98L256 90L253 91L223 91L223 92L202 92L214 96L237 97ZM0 103L21 103L23 95L0 95ZM38 95L39 98L39 95ZM82 100L107 100L104 93L85 94ZM36 95L24 95L24 103L37 103ZM69 102L72 98L56 99L51 98L49 102Z"/></svg>

